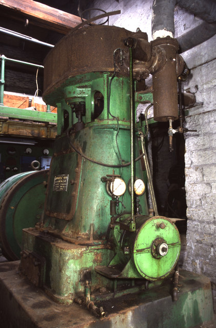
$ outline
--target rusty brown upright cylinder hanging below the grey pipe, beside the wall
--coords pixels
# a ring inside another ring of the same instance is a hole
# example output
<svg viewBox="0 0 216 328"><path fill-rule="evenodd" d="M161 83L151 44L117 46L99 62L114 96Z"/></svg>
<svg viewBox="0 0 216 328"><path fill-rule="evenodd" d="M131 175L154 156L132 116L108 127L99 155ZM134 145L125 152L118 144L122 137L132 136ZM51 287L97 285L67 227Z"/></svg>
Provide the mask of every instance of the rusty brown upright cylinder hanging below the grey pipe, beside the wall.
<svg viewBox="0 0 216 328"><path fill-rule="evenodd" d="M152 74L154 119L168 121L178 119L178 89L176 75L176 51L178 42L170 37L158 38L152 47L160 47L166 53L163 68Z"/></svg>

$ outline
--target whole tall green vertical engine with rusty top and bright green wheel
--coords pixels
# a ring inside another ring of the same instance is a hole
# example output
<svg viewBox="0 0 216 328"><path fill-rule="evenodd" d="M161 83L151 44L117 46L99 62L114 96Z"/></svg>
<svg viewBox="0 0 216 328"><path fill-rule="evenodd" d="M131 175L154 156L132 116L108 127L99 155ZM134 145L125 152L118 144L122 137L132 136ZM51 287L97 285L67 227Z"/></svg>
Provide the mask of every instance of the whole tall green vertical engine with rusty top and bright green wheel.
<svg viewBox="0 0 216 328"><path fill-rule="evenodd" d="M171 274L177 299L180 235L156 208L145 150L147 114L145 125L136 123L138 104L153 101L155 120L171 125L178 118L177 76L184 61L177 51L169 37L149 43L139 29L90 26L72 30L45 59L43 98L57 107L57 137L44 211L32 208L38 220L23 230L19 272L55 301L73 303L73 318L82 305L105 317L109 299L134 298ZM149 74L153 92L145 90ZM82 311L74 326L88 326Z"/></svg>

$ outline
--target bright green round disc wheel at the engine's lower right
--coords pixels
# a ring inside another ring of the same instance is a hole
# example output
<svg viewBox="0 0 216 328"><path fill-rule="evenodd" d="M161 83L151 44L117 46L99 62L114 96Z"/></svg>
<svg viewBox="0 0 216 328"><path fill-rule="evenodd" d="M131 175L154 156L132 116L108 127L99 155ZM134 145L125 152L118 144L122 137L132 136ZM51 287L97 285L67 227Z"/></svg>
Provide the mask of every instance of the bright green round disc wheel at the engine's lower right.
<svg viewBox="0 0 216 328"><path fill-rule="evenodd" d="M136 269L148 280L165 278L175 267L180 248L175 224L163 216L150 218L136 234L133 248Z"/></svg>

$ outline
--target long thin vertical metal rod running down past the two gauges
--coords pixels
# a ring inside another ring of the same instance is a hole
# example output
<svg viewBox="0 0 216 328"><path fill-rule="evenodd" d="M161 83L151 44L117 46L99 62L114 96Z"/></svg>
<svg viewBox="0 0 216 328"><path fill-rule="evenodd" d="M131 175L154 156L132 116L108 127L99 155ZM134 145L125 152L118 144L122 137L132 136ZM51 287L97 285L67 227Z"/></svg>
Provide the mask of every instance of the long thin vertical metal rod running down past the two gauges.
<svg viewBox="0 0 216 328"><path fill-rule="evenodd" d="M130 77L130 161L131 161L131 218L133 224L135 224L134 216L134 132L133 132L133 121L134 121L134 111L133 111L133 59L132 59L132 47L129 47L129 77Z"/></svg>

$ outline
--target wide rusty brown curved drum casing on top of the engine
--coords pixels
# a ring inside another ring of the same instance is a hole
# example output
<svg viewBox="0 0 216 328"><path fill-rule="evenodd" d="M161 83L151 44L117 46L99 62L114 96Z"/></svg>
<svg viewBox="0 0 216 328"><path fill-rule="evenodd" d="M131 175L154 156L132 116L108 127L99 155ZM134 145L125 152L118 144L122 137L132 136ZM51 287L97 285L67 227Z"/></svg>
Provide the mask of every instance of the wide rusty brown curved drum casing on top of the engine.
<svg viewBox="0 0 216 328"><path fill-rule="evenodd" d="M124 39L130 35L132 32L115 26L89 26L68 33L44 60L44 96L68 77L112 72L113 52L116 48L127 51ZM121 74L127 75L128 68L123 67Z"/></svg>

